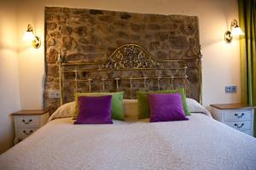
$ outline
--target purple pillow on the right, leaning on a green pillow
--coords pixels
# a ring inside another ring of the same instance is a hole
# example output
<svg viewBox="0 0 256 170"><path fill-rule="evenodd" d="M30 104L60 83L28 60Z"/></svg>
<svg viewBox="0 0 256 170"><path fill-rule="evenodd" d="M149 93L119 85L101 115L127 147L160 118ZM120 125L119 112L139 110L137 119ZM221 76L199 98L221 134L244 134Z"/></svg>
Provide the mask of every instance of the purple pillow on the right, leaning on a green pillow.
<svg viewBox="0 0 256 170"><path fill-rule="evenodd" d="M183 110L181 95L148 94L150 122L167 122L189 120Z"/></svg>

